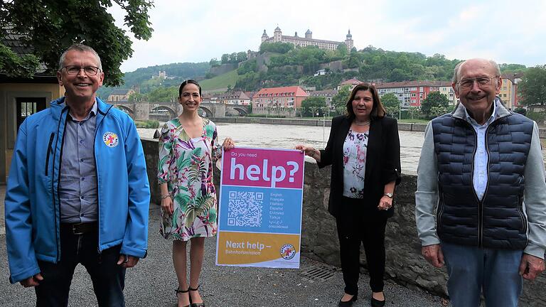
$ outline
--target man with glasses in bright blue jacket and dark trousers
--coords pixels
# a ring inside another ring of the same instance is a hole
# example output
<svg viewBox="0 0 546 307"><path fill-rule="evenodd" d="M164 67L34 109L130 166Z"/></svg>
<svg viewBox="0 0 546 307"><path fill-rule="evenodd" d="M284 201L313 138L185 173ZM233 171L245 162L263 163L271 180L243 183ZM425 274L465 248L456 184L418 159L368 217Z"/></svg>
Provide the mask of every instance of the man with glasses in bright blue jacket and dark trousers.
<svg viewBox="0 0 546 307"><path fill-rule="evenodd" d="M37 306L67 306L77 264L99 306L124 306L125 269L146 256L149 183L137 129L95 93L99 55L73 45L57 72L65 97L18 131L6 187L11 283L36 287Z"/></svg>

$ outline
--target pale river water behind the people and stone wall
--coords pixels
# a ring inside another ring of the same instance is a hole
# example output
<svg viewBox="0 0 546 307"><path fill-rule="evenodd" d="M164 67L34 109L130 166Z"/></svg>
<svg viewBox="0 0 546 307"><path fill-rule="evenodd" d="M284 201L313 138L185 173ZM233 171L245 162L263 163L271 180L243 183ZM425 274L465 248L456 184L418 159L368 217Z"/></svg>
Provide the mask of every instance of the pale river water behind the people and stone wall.
<svg viewBox="0 0 546 307"><path fill-rule="evenodd" d="M237 146L256 148L293 149L296 144L310 144L323 149L328 141L330 127L292 126L274 124L225 124L218 123L220 144L230 136ZM155 129L138 129L141 137L151 139ZM424 133L399 131L402 173L416 174ZM306 157L309 161L314 161Z"/></svg>

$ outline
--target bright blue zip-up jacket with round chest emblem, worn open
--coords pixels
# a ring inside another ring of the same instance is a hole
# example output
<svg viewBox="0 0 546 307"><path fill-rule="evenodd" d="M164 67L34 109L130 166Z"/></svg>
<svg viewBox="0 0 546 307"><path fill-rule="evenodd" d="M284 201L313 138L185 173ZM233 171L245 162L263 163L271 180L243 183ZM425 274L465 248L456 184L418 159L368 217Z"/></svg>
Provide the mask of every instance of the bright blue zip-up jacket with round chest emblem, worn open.
<svg viewBox="0 0 546 307"><path fill-rule="evenodd" d="M38 260L60 261L64 99L28 117L18 131L5 200L11 283L38 274ZM143 258L150 201L144 151L132 119L99 98L94 147L99 252L121 244L121 254Z"/></svg>

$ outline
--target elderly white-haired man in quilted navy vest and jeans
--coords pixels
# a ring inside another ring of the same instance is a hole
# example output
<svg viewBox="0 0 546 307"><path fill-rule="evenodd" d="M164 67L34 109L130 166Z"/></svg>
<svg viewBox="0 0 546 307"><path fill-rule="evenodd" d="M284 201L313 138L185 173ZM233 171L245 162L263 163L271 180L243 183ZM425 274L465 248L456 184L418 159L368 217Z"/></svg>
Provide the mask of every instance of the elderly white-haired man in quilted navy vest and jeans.
<svg viewBox="0 0 546 307"><path fill-rule="evenodd" d="M422 254L447 266L455 307L518 306L545 269L546 183L537 124L497 97L497 63L456 66L454 112L425 131L415 217Z"/></svg>

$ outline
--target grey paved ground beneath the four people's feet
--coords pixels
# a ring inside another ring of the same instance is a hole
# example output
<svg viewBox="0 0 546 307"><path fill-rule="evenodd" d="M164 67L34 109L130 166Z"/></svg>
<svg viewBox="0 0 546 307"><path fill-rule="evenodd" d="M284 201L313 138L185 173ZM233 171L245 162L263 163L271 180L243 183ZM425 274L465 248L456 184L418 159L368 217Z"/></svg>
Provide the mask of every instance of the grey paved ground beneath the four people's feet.
<svg viewBox="0 0 546 307"><path fill-rule="evenodd" d="M2 225L0 235L0 306L35 306L33 289L9 284L4 235L4 193L0 186ZM171 260L171 242L157 233L159 207L151 205L149 253L133 269L127 270L127 306L176 306L176 275ZM302 257L301 269L264 269L215 266L215 239L205 240L205 263L201 275L201 295L208 307L215 306L337 306L343 294L340 269ZM370 306L368 276L360 276L360 296L354 306ZM443 300L420 290L410 290L386 281L387 306L444 306ZM68 306L97 306L91 280L78 266Z"/></svg>

